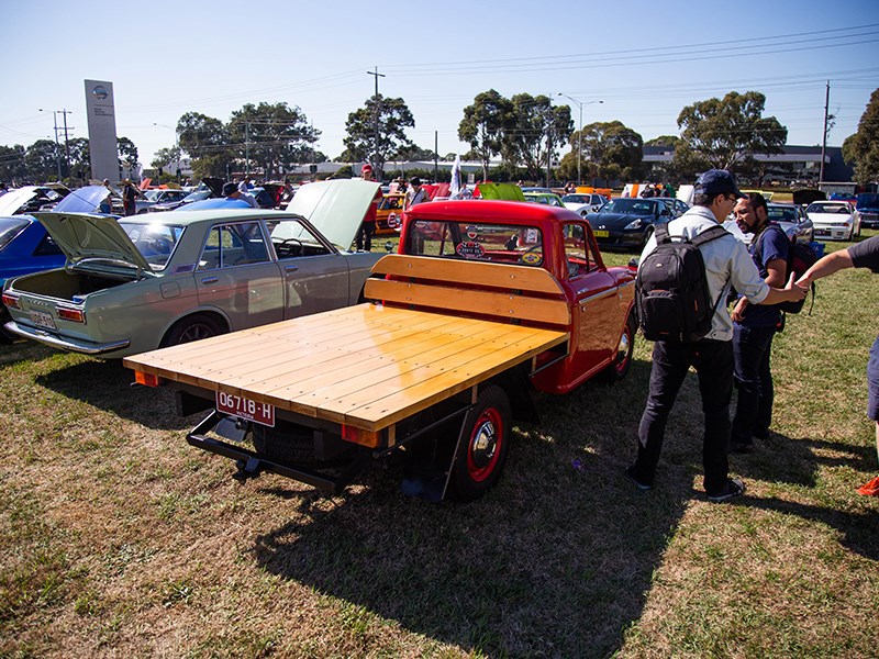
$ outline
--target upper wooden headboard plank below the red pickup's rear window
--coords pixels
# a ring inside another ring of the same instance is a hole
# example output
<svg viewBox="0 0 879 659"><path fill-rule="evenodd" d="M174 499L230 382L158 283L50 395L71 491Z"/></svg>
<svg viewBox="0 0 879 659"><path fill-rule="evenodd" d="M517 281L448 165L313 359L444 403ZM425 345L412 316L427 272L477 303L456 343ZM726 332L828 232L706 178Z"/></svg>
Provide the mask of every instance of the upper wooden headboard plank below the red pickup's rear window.
<svg viewBox="0 0 879 659"><path fill-rule="evenodd" d="M561 286L548 270L528 266L499 267L499 264L483 261L389 254L372 266L372 272L449 283L478 282L480 286L510 290L564 294Z"/></svg>

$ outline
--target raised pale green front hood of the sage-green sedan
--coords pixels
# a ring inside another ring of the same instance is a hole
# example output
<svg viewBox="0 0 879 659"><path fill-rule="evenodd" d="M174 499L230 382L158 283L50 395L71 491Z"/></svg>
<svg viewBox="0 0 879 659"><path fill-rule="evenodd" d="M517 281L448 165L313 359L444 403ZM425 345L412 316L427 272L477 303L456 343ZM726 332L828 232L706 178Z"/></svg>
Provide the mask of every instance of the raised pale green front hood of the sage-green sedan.
<svg viewBox="0 0 879 659"><path fill-rule="evenodd" d="M302 215L333 245L348 249L378 190L377 181L359 179L309 183L290 200L287 212Z"/></svg>

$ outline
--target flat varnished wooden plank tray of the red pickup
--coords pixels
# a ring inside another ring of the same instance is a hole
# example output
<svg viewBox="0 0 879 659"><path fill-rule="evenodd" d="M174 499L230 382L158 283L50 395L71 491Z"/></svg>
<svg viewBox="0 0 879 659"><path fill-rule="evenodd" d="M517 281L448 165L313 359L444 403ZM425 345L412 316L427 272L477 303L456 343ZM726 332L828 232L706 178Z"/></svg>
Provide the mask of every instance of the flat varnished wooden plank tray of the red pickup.
<svg viewBox="0 0 879 659"><path fill-rule="evenodd" d="M367 303L154 350L123 364L377 432L568 338L564 331Z"/></svg>

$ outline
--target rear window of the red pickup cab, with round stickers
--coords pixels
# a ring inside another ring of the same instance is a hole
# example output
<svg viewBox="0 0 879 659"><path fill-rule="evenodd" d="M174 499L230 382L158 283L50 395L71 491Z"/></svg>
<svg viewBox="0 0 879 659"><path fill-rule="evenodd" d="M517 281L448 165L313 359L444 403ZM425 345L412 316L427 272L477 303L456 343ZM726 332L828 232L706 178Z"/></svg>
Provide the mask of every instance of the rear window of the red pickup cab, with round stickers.
<svg viewBox="0 0 879 659"><path fill-rule="evenodd" d="M519 266L543 265L543 234L536 226L432 222L409 225L405 253Z"/></svg>

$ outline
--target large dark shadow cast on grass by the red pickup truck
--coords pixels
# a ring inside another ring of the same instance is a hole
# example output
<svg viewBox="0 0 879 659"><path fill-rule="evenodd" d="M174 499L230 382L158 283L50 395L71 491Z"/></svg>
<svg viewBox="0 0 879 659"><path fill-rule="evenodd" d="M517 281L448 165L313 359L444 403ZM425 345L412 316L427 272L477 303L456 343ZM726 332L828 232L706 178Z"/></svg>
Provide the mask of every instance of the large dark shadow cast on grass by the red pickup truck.
<svg viewBox="0 0 879 659"><path fill-rule="evenodd" d="M617 387L542 401L539 431L515 434L504 476L482 500L407 499L390 473L374 473L332 503L302 498L302 517L259 536L255 557L466 651L611 655L639 618L692 496L691 478L644 493L623 474L643 404L633 392L648 372L636 364Z"/></svg>

